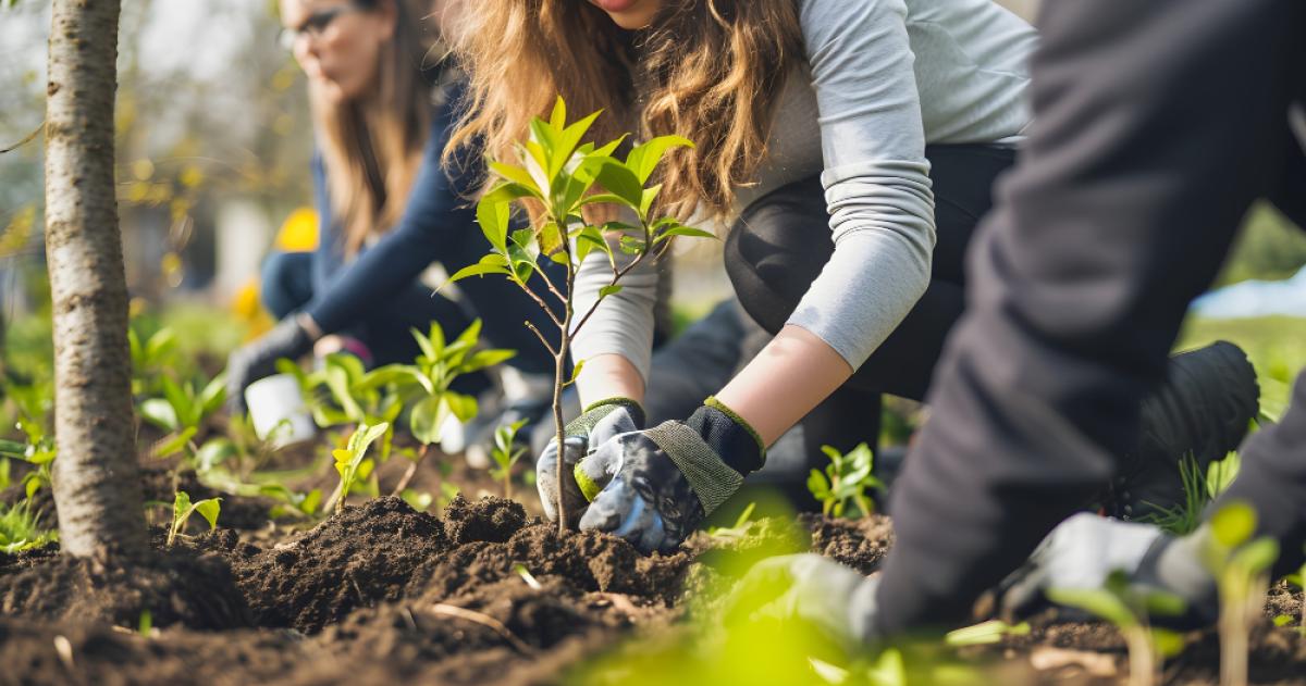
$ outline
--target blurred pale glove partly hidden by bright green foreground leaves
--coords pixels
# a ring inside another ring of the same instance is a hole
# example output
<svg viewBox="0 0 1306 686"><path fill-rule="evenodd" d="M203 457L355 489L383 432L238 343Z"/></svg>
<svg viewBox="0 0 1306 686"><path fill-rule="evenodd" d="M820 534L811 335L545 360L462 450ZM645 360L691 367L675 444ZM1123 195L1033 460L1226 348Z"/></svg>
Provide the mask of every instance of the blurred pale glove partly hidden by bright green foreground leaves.
<svg viewBox="0 0 1306 686"><path fill-rule="evenodd" d="M879 582L815 553L772 557L735 584L725 621L727 626L761 617L802 622L853 653L876 639Z"/></svg>

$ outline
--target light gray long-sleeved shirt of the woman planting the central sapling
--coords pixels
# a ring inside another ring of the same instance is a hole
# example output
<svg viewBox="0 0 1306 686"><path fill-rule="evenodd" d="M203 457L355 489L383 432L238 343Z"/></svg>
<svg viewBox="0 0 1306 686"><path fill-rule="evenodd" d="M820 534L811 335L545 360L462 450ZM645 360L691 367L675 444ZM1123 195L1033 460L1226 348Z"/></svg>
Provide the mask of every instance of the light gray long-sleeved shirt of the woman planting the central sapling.
<svg viewBox="0 0 1306 686"><path fill-rule="evenodd" d="M926 142L1015 145L1029 119L1025 61L1036 34L991 0L798 7L807 60L786 82L757 184L737 190L737 206L821 173L835 250L789 323L857 369L930 282ZM610 275L598 254L581 266L581 312ZM618 353L646 381L657 279L653 265L628 274L576 338L575 359Z"/></svg>

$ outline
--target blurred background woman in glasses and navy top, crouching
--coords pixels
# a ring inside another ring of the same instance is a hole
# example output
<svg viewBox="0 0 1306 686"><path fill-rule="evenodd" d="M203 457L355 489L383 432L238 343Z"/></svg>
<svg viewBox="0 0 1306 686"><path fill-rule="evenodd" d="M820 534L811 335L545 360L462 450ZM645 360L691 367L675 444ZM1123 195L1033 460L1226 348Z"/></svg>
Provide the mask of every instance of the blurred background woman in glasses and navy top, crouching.
<svg viewBox="0 0 1306 686"><path fill-rule="evenodd" d="M231 356L235 410L276 360L299 357L325 335L341 334L346 351L372 364L411 361L410 329L424 333L432 321L452 335L479 317L488 344L517 351L508 365L518 377L547 380L552 363L522 326L543 325L543 314L516 287L468 280L460 303L422 279L434 262L452 271L481 250L468 200L481 181L440 163L464 89L432 50L428 16L445 4L281 1L283 42L308 76L320 240L316 252L268 258L263 300L281 322Z"/></svg>

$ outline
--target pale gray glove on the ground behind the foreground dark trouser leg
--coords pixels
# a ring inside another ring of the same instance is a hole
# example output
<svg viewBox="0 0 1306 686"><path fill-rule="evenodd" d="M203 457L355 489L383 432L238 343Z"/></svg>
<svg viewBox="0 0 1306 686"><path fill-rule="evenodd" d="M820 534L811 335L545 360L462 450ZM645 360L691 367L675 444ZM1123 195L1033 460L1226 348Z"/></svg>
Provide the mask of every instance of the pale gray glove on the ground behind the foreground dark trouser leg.
<svg viewBox="0 0 1306 686"><path fill-rule="evenodd" d="M1183 614L1157 616L1152 623L1170 629L1211 623L1218 612L1216 586L1199 554L1207 531L1203 526L1175 539L1152 524L1089 513L1074 515L1058 524L1029 561L1002 582L999 614L1008 622L1033 614L1049 604L1049 589L1098 589L1111 573L1122 571L1140 591L1183 599Z"/></svg>

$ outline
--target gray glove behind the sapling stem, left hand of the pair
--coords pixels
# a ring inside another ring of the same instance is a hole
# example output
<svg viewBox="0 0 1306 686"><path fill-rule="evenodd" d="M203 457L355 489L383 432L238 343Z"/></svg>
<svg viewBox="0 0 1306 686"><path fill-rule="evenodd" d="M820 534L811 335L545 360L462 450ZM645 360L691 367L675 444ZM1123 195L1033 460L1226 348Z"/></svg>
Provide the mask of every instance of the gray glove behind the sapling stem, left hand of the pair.
<svg viewBox="0 0 1306 686"><path fill-rule="evenodd" d="M609 438L644 428L644 408L629 398L609 398L585 408L563 429L563 484L562 497L567 506L567 526L575 528L581 513L589 505L576 484L576 464L596 446ZM535 486L545 516L558 520L558 438L550 438L539 459L535 460Z"/></svg>

